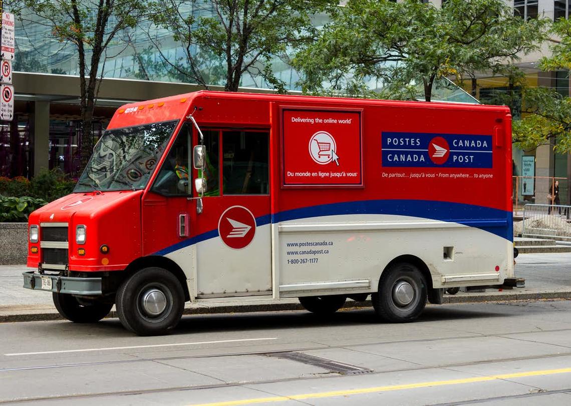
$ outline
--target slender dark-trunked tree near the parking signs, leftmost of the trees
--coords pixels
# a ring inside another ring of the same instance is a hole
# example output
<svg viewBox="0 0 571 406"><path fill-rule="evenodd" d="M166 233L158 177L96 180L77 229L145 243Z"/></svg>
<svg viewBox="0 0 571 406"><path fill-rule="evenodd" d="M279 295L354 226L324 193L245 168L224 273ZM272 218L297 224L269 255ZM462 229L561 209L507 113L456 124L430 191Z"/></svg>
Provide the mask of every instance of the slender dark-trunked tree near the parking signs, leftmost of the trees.
<svg viewBox="0 0 571 406"><path fill-rule="evenodd" d="M82 170L93 150L91 126L107 51L146 13L144 4L137 0L16 0L11 10L24 26L49 27L55 39L77 51Z"/></svg>

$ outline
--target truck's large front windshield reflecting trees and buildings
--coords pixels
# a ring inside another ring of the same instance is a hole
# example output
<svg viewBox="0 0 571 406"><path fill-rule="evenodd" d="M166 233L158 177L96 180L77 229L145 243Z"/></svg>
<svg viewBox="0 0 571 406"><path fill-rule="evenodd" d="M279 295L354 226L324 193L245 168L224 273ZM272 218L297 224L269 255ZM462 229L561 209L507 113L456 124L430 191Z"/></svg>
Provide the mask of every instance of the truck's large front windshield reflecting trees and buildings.
<svg viewBox="0 0 571 406"><path fill-rule="evenodd" d="M144 188L176 123L174 120L105 131L74 192Z"/></svg>

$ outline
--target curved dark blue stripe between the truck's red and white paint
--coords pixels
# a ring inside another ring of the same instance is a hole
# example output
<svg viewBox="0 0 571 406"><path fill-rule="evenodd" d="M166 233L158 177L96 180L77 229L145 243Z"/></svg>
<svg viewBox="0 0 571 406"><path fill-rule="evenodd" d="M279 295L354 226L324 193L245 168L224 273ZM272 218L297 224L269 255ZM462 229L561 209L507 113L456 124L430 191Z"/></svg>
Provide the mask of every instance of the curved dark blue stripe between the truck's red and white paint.
<svg viewBox="0 0 571 406"><path fill-rule="evenodd" d="M320 204L319 206L296 208L273 215L260 216L256 218L256 227L270 224L270 222L275 224L288 220L347 214L388 214L441 220L480 228L480 230L488 231L508 241L513 241L512 212L496 208L472 206L471 204L436 202L432 200L361 200L358 202ZM166 247L157 251L155 255L166 255L215 237L218 237L217 229Z"/></svg>

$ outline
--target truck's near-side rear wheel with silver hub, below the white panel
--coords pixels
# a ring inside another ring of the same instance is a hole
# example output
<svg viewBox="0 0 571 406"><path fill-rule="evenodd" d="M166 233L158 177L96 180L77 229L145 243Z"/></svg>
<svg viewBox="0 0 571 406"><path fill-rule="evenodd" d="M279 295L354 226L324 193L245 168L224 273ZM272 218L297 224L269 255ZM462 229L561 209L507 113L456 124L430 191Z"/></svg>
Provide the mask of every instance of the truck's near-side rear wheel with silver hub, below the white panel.
<svg viewBox="0 0 571 406"><path fill-rule="evenodd" d="M377 315L393 323L415 320L427 303L427 283L419 268L398 263L385 270L379 280L379 292L371 295Z"/></svg>

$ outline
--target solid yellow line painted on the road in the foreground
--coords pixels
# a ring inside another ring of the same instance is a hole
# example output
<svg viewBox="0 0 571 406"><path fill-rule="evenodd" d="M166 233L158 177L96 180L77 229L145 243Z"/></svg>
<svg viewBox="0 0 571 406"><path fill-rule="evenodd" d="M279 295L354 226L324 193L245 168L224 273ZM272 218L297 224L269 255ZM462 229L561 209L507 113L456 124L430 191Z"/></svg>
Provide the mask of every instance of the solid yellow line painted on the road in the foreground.
<svg viewBox="0 0 571 406"><path fill-rule="evenodd" d="M493 381L498 379L512 379L512 378L521 378L526 376L554 375L556 373L569 373L569 372L571 372L571 368L543 369L541 371L504 373L501 375L477 376L473 378L450 379L445 381L429 381L429 382L417 382L404 385L389 385L389 386L377 386L373 388L347 389L345 391L303 393L301 395L289 395L289 396L255 397L252 399L230 400L226 402L202 403L195 406L236 406L236 405L247 405L255 403L283 402L287 400L302 400L302 399L316 399L319 397L360 395L362 393L400 391L402 389L427 388L432 386L443 386L443 385L458 385L458 384Z"/></svg>

